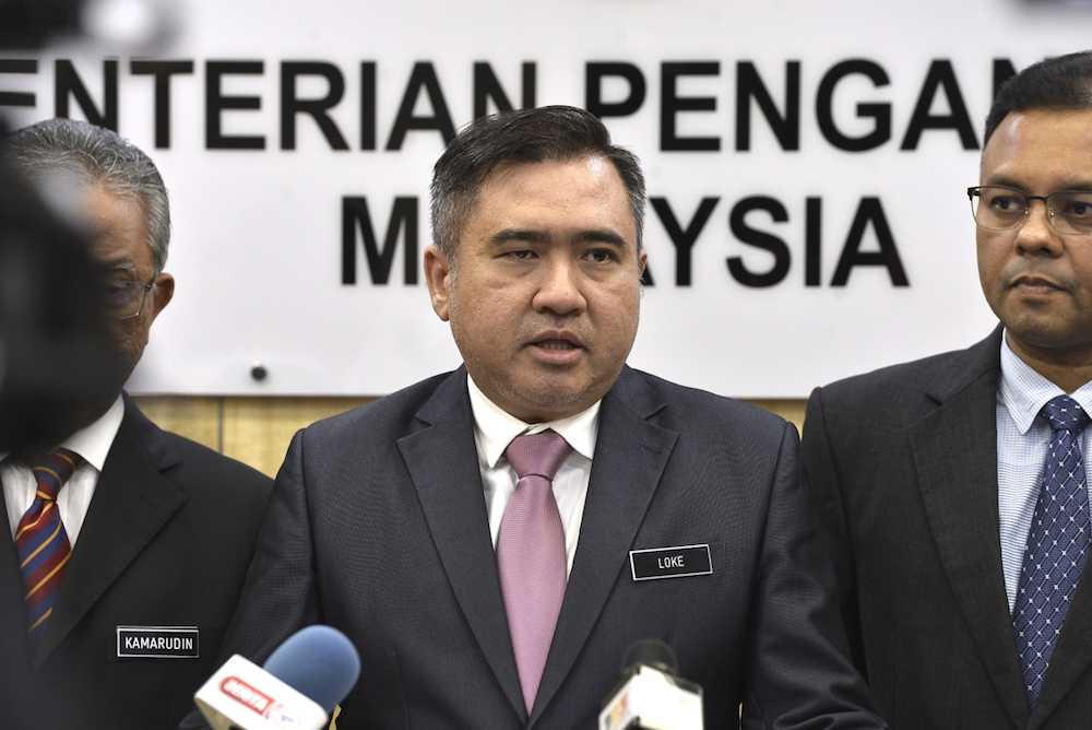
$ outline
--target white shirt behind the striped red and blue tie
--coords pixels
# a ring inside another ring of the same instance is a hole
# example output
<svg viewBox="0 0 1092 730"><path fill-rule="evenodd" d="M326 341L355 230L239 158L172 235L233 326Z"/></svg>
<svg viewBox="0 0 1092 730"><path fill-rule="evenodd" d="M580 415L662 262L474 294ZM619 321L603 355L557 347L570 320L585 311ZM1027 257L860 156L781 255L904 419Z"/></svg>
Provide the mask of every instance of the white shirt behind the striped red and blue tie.
<svg viewBox="0 0 1092 730"><path fill-rule="evenodd" d="M73 548L76 538L80 537L83 520L87 516L91 498L95 495L98 475L103 472L103 464L106 463L106 455L109 454L114 438L118 435L118 428L121 427L124 412L124 403L118 396L114 405L98 421L75 432L59 445L59 448L74 451L84 459L57 494L57 508L60 510L64 531L68 532L69 544ZM34 504L38 483L28 466L14 458L9 459L8 456L7 451L0 451L0 484L3 485L8 523L11 527L11 537L14 539L19 520Z"/></svg>

